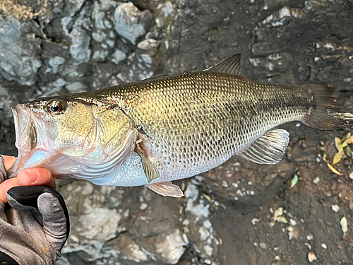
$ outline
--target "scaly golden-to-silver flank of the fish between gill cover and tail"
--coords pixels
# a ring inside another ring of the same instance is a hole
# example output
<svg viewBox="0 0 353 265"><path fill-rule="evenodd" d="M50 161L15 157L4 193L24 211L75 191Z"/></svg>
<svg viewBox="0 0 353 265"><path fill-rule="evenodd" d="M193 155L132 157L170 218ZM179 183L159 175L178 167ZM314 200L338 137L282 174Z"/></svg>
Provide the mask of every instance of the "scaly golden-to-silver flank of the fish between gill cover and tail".
<svg viewBox="0 0 353 265"><path fill-rule="evenodd" d="M224 163L275 126L302 119L307 90L258 84L203 71L116 86L109 95L145 134L161 181L196 175Z"/></svg>

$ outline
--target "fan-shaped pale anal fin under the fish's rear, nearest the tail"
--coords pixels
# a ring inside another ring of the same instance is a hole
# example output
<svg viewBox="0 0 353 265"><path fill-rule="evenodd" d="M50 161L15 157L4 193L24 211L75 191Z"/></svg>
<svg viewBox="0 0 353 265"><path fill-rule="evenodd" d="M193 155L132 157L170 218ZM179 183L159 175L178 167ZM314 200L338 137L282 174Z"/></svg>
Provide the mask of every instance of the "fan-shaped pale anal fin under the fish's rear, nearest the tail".
<svg viewBox="0 0 353 265"><path fill-rule="evenodd" d="M282 160L289 143L289 132L284 129L266 131L238 155L258 164L276 164Z"/></svg>

